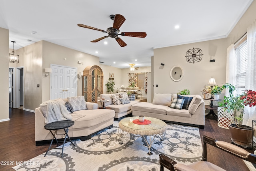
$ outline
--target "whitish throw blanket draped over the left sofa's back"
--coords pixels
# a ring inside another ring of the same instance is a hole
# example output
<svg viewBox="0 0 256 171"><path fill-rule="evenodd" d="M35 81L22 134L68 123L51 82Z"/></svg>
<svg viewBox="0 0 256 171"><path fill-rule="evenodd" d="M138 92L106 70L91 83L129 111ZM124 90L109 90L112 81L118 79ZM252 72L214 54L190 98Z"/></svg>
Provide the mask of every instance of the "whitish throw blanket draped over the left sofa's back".
<svg viewBox="0 0 256 171"><path fill-rule="evenodd" d="M62 120L72 120L72 116L68 112L66 106L59 101L48 101L45 123L51 123Z"/></svg>

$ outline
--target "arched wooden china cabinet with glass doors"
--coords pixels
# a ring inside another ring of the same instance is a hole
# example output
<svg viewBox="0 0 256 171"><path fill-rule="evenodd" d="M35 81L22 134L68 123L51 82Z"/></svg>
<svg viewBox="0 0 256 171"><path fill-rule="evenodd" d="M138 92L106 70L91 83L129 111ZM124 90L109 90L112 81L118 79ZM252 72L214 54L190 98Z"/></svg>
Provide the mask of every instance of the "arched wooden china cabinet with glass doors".
<svg viewBox="0 0 256 171"><path fill-rule="evenodd" d="M103 94L103 72L97 66L87 66L83 71L82 91L85 101L97 103L97 97Z"/></svg>

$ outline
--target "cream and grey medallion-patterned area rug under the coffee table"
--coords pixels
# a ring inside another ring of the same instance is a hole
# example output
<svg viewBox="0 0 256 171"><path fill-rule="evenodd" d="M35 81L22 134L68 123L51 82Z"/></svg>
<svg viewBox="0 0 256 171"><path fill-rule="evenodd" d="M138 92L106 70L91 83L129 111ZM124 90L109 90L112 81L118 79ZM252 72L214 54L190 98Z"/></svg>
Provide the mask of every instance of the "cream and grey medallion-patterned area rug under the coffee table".
<svg viewBox="0 0 256 171"><path fill-rule="evenodd" d="M126 135L135 139L136 135ZM146 137L149 141L149 136ZM16 171L159 171L159 154L165 154L178 163L190 164L202 160L202 143L196 127L167 123L164 141L155 139L151 147L153 155L142 137L131 142L122 138L119 144L118 122L113 128L95 134L90 140L73 140L65 143L64 154L60 149L50 150L34 157L22 165L13 167ZM166 169L167 170L167 169Z"/></svg>

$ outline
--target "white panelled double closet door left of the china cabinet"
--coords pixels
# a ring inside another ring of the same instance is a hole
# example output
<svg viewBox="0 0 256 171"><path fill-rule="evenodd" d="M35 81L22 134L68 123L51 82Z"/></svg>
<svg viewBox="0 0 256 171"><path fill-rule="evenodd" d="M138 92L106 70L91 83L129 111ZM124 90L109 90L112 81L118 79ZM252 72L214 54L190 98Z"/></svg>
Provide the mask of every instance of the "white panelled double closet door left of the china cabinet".
<svg viewBox="0 0 256 171"><path fill-rule="evenodd" d="M51 99L76 96L76 69L51 66Z"/></svg>

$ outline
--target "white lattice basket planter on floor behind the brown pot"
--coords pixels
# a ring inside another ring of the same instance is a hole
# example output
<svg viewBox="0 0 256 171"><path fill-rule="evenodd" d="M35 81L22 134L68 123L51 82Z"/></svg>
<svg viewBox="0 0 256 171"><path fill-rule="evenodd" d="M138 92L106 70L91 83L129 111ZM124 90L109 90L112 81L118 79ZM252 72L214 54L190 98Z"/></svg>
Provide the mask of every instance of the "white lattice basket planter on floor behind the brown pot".
<svg viewBox="0 0 256 171"><path fill-rule="evenodd" d="M234 123L234 112L224 111L224 107L218 107L218 126L229 129L228 125Z"/></svg>

